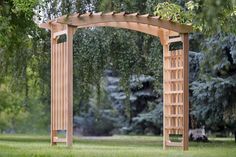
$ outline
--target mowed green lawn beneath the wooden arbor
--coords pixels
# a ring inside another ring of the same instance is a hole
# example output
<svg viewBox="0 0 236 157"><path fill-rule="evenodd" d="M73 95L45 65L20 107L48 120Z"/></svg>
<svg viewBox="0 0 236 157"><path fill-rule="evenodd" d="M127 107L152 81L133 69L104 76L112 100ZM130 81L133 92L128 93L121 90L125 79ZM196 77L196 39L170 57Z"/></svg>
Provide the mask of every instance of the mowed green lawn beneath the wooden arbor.
<svg viewBox="0 0 236 157"><path fill-rule="evenodd" d="M0 135L0 157L236 157L231 138L191 142L189 151L162 149L162 137L74 137L72 148L50 146L49 136Z"/></svg>

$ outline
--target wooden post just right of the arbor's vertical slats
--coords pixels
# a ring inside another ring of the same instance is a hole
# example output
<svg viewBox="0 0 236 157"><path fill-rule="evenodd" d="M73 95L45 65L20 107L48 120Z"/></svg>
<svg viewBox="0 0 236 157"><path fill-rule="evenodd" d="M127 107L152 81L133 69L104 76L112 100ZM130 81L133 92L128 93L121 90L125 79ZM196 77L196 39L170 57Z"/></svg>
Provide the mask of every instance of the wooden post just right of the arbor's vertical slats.
<svg viewBox="0 0 236 157"><path fill-rule="evenodd" d="M67 25L67 77L66 77L66 89L67 89L67 131L66 131L66 144L72 146L73 142L73 33L74 27Z"/></svg>

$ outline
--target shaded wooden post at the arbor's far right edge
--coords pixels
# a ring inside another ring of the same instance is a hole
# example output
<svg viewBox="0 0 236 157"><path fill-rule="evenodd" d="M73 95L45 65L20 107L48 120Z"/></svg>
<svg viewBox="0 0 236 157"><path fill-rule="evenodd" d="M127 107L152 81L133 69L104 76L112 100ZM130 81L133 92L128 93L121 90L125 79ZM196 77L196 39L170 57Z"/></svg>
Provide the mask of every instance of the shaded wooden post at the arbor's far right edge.
<svg viewBox="0 0 236 157"><path fill-rule="evenodd" d="M189 39L188 34L183 34L183 55L184 55L184 133L183 133L183 150L188 150L188 130L189 130L189 62L188 62L188 51L189 51Z"/></svg>

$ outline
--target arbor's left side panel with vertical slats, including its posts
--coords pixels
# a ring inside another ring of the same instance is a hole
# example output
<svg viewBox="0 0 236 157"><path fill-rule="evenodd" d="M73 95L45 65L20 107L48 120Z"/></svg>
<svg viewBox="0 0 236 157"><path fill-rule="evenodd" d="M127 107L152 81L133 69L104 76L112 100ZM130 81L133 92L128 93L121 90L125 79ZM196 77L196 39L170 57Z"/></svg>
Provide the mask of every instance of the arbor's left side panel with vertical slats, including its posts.
<svg viewBox="0 0 236 157"><path fill-rule="evenodd" d="M73 139L73 33L74 28L66 26L66 41L58 43L61 32L51 34L51 143ZM58 34L59 33L59 34ZM56 36L56 35L58 36ZM66 131L65 138L57 137L57 131Z"/></svg>

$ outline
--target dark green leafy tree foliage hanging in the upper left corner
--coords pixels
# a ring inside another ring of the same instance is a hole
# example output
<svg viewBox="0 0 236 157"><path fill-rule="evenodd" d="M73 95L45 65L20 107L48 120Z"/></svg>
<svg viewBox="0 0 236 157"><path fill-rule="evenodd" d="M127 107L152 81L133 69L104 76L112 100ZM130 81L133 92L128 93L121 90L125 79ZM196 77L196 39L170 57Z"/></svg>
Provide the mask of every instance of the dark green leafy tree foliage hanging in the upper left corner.
<svg viewBox="0 0 236 157"><path fill-rule="evenodd" d="M35 24L32 21L33 8L37 1L3 1L0 6L0 76L2 79L10 76L11 85L21 86L15 90L25 93L25 105L28 99L28 74L31 64L31 51ZM12 88L13 89L13 88Z"/></svg>

